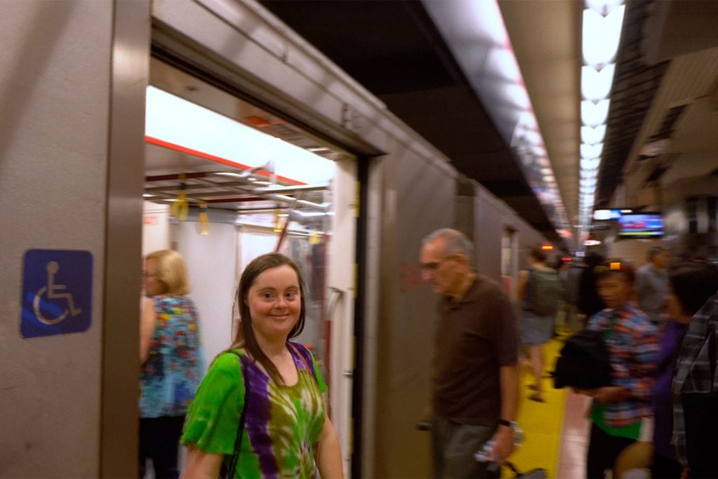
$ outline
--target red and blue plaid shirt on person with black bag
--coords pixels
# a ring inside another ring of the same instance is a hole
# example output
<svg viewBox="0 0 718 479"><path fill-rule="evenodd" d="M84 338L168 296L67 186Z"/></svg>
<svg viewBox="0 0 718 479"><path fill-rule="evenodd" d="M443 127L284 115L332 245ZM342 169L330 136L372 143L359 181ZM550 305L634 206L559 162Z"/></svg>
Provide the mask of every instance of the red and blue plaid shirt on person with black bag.
<svg viewBox="0 0 718 479"><path fill-rule="evenodd" d="M589 330L604 331L613 368L612 386L630 391L626 401L605 404L603 422L627 427L651 415L651 373L658 358L658 332L648 317L631 304L606 309L591 317Z"/></svg>

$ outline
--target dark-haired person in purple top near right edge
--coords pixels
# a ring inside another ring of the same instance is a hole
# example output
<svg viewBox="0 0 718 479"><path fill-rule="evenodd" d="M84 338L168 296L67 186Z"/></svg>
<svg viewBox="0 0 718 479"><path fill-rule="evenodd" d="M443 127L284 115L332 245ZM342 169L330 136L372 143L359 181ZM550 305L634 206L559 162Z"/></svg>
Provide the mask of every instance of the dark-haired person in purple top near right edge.
<svg viewBox="0 0 718 479"><path fill-rule="evenodd" d="M653 383L653 478L680 478L683 467L676 460L671 446L673 430L673 396L671 379L676 355L686 332L686 325L701 306L718 290L718 269L709 264L686 263L673 269L668 275L669 292L666 302L668 317L661 349L658 353Z"/></svg>

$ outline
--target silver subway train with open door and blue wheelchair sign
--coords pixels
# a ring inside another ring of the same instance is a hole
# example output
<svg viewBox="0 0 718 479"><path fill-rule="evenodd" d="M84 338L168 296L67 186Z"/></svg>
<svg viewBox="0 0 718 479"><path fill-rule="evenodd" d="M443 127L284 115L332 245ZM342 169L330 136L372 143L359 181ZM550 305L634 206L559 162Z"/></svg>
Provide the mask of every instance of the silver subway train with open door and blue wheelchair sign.
<svg viewBox="0 0 718 479"><path fill-rule="evenodd" d="M462 172L271 5L4 8L0 475L136 475L141 259L171 248L187 260L207 364L233 339L243 267L292 256L308 292L299 340L327 379L345 474L428 477L416 423L438 298L421 279L422 239L464 232L477 270L512 298L528 248L560 259L586 246ZM591 238L636 262L659 243L716 256L712 171L666 192L664 240L620 241L608 221ZM46 280L82 298L81 321L58 311L31 327Z"/></svg>

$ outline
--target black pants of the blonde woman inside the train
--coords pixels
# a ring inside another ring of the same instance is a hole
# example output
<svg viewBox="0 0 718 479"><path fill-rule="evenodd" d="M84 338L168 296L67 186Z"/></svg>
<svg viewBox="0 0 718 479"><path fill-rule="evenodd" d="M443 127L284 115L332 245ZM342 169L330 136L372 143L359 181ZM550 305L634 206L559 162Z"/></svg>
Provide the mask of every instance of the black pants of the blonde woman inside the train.
<svg viewBox="0 0 718 479"><path fill-rule="evenodd" d="M157 479L177 479L177 450L180 446L184 416L141 417L139 419L139 478L145 473L149 457Z"/></svg>

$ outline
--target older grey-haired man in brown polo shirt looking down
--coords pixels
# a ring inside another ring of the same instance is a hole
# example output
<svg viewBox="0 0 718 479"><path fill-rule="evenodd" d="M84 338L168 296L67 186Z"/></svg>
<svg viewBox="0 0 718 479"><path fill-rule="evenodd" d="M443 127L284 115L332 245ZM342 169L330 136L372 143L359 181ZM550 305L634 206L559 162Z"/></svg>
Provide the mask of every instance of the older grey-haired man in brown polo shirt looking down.
<svg viewBox="0 0 718 479"><path fill-rule="evenodd" d="M475 452L493 440L493 461L501 464L514 449L516 317L498 284L472 268L472 251L466 236L449 228L421 247L422 277L442 295L432 398L437 478L498 478Z"/></svg>

